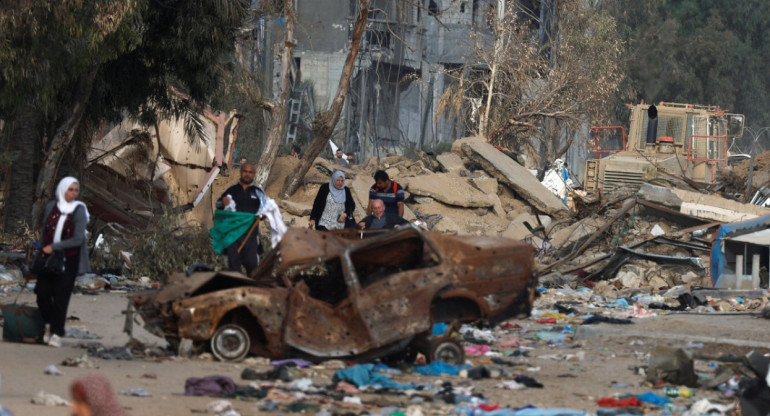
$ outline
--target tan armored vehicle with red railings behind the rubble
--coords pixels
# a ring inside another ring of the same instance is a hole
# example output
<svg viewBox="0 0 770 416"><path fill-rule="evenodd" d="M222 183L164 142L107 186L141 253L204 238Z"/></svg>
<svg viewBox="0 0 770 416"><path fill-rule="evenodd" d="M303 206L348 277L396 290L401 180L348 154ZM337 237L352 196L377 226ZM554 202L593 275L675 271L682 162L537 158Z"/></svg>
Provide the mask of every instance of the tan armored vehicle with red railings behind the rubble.
<svg viewBox="0 0 770 416"><path fill-rule="evenodd" d="M743 136L744 116L715 106L661 102L630 106L621 126L594 127L586 191L610 190L666 174L712 183L727 167L728 146Z"/></svg>

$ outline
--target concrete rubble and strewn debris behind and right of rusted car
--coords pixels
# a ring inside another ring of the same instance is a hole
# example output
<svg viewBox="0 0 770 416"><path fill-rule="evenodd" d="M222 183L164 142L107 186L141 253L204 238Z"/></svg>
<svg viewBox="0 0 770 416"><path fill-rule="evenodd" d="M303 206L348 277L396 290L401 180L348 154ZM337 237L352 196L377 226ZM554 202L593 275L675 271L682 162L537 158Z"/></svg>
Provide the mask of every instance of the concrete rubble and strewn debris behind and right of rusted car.
<svg viewBox="0 0 770 416"><path fill-rule="evenodd" d="M268 195L278 194L297 163L278 158ZM770 153L755 163L752 181L761 189L770 180ZM763 354L770 344L724 339L709 326L723 317L770 315L763 266L770 264L764 232L770 209L725 197L738 193L741 181L745 188L744 164L725 176L729 184L722 193L656 180L599 195L572 189L565 203L479 138L458 140L449 153L390 155L350 169L319 158L302 187L277 201L287 225L307 227L319 186L335 170L346 173L355 217L362 218L372 176L385 170L406 191L407 220L441 233L531 245L538 276L531 316L454 328L450 335L466 357L462 365L420 355L359 363L247 358L240 379L196 374L179 390L235 401L211 403L217 410L209 412L228 415L254 409L329 415L766 414L770 359ZM233 181L218 178L212 194ZM6 258L18 257L11 252ZM0 267L0 291L19 290L23 273L17 269L12 262ZM157 287L158 280L103 274L83 277L78 286L94 293L134 291ZM659 320L665 331L655 329ZM190 348L148 355L211 359ZM608 374L621 356L634 365ZM566 384L570 394L559 394Z"/></svg>

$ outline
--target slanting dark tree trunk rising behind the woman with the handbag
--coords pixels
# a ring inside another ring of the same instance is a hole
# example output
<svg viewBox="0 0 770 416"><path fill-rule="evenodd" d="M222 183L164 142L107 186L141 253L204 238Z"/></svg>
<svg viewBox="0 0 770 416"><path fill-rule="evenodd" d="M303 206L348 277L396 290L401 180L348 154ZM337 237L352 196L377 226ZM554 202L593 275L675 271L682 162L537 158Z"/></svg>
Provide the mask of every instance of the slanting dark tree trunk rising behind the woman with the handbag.
<svg viewBox="0 0 770 416"><path fill-rule="evenodd" d="M32 221L35 230L40 229L43 207L53 194L53 187L56 182L59 165L61 164L70 143L72 143L72 136L75 134L78 125L80 125L80 120L83 119L83 113L85 113L86 104L88 104L88 99L91 97L95 78L96 70L92 69L91 72L78 79L77 86L72 95L71 111L61 122L56 133L54 133L54 136L51 138L51 145L46 152L45 159L40 168L40 173L37 177L35 200L32 204Z"/></svg>

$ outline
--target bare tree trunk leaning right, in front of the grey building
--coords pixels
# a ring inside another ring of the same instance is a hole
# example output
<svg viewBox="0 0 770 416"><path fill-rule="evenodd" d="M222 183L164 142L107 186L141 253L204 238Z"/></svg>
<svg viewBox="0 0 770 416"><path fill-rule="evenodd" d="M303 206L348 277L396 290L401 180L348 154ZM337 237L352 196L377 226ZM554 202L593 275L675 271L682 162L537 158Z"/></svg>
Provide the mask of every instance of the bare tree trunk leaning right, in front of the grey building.
<svg viewBox="0 0 770 416"><path fill-rule="evenodd" d="M334 126L337 125L340 119L340 114L345 104L345 97L348 95L350 77L353 74L353 64L356 61L356 56L358 56L358 49L361 47L361 38L366 28L368 15L369 0L358 0L358 17L356 17L356 24L353 27L350 50L348 50L348 56L345 58L345 65L342 67L342 76L337 87L337 94L334 96L329 110L319 113L313 118L313 140L308 145L298 169L283 184L283 189L281 189L281 193L278 195L279 198L289 198L299 188L302 178L305 177L315 158L318 157L321 150L326 146L329 137L334 131Z"/></svg>

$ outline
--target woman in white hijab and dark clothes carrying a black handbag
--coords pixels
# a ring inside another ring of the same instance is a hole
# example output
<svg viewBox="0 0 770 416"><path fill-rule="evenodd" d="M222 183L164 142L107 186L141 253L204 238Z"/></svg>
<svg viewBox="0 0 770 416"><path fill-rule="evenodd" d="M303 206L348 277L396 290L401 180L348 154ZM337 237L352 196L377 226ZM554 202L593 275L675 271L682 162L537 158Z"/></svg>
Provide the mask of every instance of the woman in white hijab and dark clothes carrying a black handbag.
<svg viewBox="0 0 770 416"><path fill-rule="evenodd" d="M43 214L43 253L64 252L64 272L38 275L35 285L37 306L46 324L43 340L52 347L61 346L75 277L91 271L86 246L90 216L86 205L77 200L79 193L78 180L65 177L56 186L56 199L45 206Z"/></svg>

